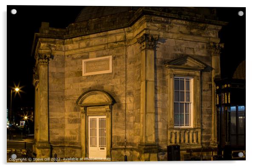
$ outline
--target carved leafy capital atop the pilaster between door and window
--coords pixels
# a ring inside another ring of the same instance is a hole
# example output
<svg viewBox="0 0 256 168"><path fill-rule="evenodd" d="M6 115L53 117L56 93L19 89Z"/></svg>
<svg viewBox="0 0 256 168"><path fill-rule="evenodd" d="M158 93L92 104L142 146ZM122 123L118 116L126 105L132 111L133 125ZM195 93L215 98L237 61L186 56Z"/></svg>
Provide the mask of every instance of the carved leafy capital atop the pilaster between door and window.
<svg viewBox="0 0 256 168"><path fill-rule="evenodd" d="M150 34L144 33L141 37L137 39L137 42L141 44L140 49L154 49L156 47L156 41L158 40L158 36L154 37Z"/></svg>

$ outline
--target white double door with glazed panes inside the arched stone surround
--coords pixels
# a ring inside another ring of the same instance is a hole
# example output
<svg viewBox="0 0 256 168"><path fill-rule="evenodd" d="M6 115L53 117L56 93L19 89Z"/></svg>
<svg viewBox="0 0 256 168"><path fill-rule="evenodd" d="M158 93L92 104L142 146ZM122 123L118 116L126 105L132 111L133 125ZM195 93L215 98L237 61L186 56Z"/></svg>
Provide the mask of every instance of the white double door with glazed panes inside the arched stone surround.
<svg viewBox="0 0 256 168"><path fill-rule="evenodd" d="M89 158L106 157L106 116L88 116Z"/></svg>

